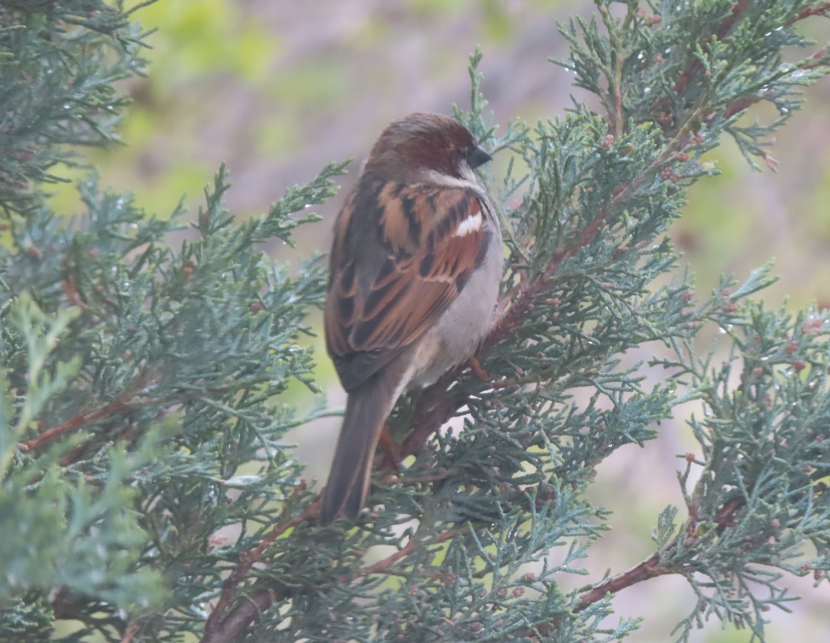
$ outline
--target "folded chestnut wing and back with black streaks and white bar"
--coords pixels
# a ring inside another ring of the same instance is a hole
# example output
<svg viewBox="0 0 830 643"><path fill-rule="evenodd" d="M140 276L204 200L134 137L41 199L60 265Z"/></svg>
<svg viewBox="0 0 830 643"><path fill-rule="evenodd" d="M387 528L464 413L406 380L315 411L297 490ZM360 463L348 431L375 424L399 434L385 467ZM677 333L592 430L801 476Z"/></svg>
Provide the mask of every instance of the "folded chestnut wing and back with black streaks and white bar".
<svg viewBox="0 0 830 643"><path fill-rule="evenodd" d="M484 257L481 209L471 189L432 185L382 184L349 199L335 226L325 304L326 345L346 390L422 336L457 297ZM363 245L344 248L356 236Z"/></svg>

